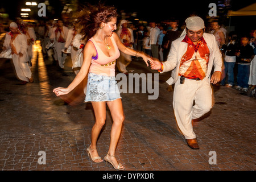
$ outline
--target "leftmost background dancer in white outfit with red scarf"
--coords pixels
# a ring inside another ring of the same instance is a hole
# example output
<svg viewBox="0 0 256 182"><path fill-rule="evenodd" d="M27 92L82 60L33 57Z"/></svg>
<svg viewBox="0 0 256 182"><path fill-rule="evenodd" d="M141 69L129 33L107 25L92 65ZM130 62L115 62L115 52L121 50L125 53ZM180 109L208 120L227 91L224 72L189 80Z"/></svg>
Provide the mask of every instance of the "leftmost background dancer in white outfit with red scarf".
<svg viewBox="0 0 256 182"><path fill-rule="evenodd" d="M22 80L20 84L24 85L27 82L33 82L32 73L28 67L26 35L19 31L18 25L15 22L10 23L10 30L10 32L6 33L3 51L11 49L16 76Z"/></svg>

